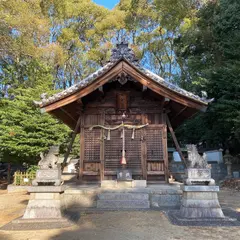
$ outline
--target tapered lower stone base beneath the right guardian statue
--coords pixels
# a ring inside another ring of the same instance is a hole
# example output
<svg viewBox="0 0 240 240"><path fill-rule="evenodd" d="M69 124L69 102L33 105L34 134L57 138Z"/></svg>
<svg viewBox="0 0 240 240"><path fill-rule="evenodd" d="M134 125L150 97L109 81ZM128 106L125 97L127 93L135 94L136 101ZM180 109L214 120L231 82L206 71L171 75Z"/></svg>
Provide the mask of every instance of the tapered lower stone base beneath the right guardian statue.
<svg viewBox="0 0 240 240"><path fill-rule="evenodd" d="M224 218L218 201L218 186L182 186L183 198L179 215L188 219Z"/></svg>

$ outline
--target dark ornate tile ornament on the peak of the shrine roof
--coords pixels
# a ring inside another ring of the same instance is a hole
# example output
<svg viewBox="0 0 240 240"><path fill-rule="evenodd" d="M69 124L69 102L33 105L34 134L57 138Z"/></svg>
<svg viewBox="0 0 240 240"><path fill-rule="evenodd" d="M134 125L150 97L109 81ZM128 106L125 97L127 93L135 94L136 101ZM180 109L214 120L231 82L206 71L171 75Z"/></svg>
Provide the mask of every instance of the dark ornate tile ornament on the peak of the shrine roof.
<svg viewBox="0 0 240 240"><path fill-rule="evenodd" d="M117 43L116 47L112 49L110 62L116 62L122 58L125 58L131 63L138 64L138 59L136 58L134 51L128 46L128 42L126 41Z"/></svg>

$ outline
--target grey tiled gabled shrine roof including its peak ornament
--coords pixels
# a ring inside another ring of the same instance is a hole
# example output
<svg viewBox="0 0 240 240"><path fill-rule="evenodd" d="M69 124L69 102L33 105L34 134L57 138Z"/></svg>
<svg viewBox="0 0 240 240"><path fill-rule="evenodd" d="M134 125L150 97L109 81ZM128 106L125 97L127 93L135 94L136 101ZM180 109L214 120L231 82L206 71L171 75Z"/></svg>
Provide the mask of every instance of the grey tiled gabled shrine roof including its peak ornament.
<svg viewBox="0 0 240 240"><path fill-rule="evenodd" d="M45 94L42 94L42 100L41 102L35 102L38 106L40 106L42 109L44 109L46 106L49 106L53 103L59 102L62 99L65 99L71 95L76 94L77 92L80 92L81 90L85 89L86 87L90 86L91 84L97 82L98 79L106 75L111 69L117 67L119 64L122 64L122 71L127 71L127 69L133 68L136 72L138 72L141 76L145 77L146 79L150 80L155 85L158 85L159 87L163 88L163 95L168 90L168 96L170 99L173 97L174 94L179 95L180 97L184 97L184 99L190 102L194 102L201 107L197 107L200 110L206 109L206 106L211 100L207 100L204 98L201 98L191 92L188 92L166 80L158 76L157 74L143 68L140 66L139 61L136 59L134 52L132 49L128 47L127 43L120 43L116 45L116 48L112 50L112 55L110 58L110 61L103 66L102 68L98 69L96 72L89 75L87 78L81 80L79 83L69 87L68 89L54 94L51 97L46 98ZM125 65L124 65L125 64ZM125 67L125 68L124 68ZM131 71L128 72L131 74ZM146 82L146 85L149 88L151 88L150 82ZM100 84L101 85L101 84ZM100 86L99 85L99 86ZM152 89L154 90L154 89ZM165 90L165 92L164 92ZM157 92L157 90L155 90ZM171 95L172 93L172 95ZM85 94L86 95L86 94ZM74 100L74 98L73 98ZM175 99L176 100L176 99ZM61 106L64 106L65 104L68 104L69 102L66 101L65 103L61 104ZM51 109L49 108L46 110L47 112L50 112Z"/></svg>

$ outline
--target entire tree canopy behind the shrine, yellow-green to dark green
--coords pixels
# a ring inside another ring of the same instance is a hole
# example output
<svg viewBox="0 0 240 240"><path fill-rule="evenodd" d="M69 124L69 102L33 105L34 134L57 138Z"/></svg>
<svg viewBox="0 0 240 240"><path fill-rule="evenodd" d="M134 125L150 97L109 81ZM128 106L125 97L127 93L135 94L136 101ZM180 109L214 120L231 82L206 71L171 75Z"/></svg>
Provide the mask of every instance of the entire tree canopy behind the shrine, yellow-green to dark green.
<svg viewBox="0 0 240 240"><path fill-rule="evenodd" d="M103 66L117 42L167 81L215 100L178 131L182 144L239 152L240 2L91 0L0 2L0 153L36 159L69 129L33 100L65 89Z"/></svg>

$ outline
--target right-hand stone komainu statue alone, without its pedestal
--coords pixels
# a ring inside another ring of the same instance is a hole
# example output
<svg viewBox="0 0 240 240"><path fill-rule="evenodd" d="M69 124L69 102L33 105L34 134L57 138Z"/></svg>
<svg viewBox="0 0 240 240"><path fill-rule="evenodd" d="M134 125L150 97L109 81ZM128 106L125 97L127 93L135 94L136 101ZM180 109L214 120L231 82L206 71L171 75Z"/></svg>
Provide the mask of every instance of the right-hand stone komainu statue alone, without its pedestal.
<svg viewBox="0 0 240 240"><path fill-rule="evenodd" d="M204 157L199 155L194 144L187 145L188 151L188 168L207 168L208 164Z"/></svg>

